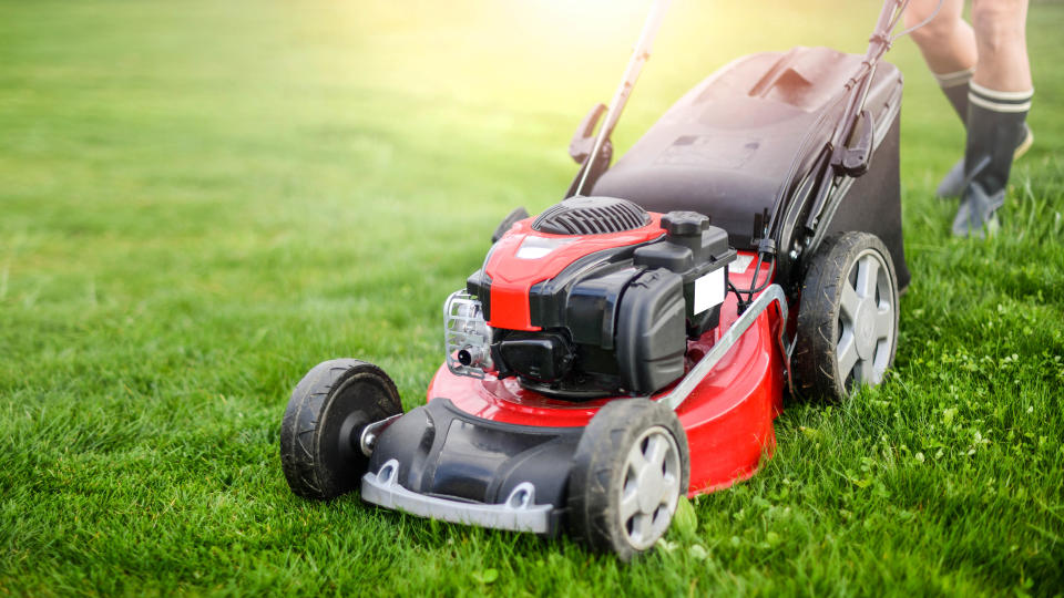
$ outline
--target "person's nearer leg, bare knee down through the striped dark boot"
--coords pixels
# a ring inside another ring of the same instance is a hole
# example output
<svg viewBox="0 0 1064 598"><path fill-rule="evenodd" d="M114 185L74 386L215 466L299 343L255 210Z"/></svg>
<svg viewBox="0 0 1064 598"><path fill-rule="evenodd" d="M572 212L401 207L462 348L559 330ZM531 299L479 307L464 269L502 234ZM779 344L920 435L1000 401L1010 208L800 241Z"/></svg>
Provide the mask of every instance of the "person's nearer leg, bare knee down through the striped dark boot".
<svg viewBox="0 0 1064 598"><path fill-rule="evenodd" d="M968 184L953 220L954 235L982 235L984 226L996 226L1015 150L1029 134L1024 121L1034 90L1026 18L1027 0L974 0L972 7L979 63L969 84Z"/></svg>

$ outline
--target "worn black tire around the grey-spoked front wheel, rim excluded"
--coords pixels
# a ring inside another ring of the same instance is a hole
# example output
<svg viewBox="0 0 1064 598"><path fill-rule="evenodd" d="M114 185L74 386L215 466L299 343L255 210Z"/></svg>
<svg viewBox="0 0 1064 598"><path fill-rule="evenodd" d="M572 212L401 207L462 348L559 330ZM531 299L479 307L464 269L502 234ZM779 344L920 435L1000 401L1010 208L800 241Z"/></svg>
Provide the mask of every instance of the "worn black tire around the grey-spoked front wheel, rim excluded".
<svg viewBox="0 0 1064 598"><path fill-rule="evenodd" d="M648 549L632 545L621 520L625 458L641 435L655 429L664 429L675 440L681 468L677 498L686 495L690 478L687 435L671 409L646 399L617 399L602 406L581 435L570 472L570 533L590 548L612 551L624 561ZM675 506L669 523L674 514Z"/></svg>

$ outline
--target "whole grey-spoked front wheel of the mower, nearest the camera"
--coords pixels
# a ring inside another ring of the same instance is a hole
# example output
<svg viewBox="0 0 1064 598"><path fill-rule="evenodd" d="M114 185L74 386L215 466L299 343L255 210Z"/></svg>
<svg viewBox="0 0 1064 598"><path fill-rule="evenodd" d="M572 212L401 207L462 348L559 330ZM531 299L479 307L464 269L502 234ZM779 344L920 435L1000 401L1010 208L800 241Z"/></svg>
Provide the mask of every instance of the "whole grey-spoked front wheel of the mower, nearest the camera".
<svg viewBox="0 0 1064 598"><path fill-rule="evenodd" d="M645 399L606 403L576 447L569 482L570 527L622 560L668 530L689 476L687 436L672 410Z"/></svg>

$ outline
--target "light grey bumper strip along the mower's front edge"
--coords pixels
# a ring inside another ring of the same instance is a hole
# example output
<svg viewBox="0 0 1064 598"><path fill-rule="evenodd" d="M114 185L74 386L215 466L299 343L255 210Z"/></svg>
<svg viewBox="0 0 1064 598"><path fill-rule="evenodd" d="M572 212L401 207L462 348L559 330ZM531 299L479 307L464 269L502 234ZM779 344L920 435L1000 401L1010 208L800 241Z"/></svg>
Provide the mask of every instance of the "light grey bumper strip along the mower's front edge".
<svg viewBox="0 0 1064 598"><path fill-rule="evenodd" d="M410 492L399 485L399 462L391 460L379 472L362 476L362 499L386 508L444 522L511 532L551 532L552 505L536 505L532 484L519 485L504 503L468 503Z"/></svg>

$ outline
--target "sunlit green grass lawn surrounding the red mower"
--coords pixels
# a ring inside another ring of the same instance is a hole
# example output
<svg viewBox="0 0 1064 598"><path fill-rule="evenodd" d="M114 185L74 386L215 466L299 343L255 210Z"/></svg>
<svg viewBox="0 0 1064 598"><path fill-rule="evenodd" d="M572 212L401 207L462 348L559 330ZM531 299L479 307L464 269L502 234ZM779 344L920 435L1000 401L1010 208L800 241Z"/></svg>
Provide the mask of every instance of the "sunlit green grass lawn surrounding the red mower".
<svg viewBox="0 0 1064 598"><path fill-rule="evenodd" d="M1064 590L1061 4L1031 9L1037 141L988 241L930 197L963 132L897 44L894 375L789 404L776 456L668 549L622 565L288 492L303 373L361 357L421 404L441 301L503 214L567 185L644 10L567 4L0 3L0 595ZM861 51L876 10L677 3L618 144L736 55Z"/></svg>

